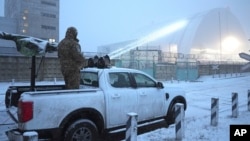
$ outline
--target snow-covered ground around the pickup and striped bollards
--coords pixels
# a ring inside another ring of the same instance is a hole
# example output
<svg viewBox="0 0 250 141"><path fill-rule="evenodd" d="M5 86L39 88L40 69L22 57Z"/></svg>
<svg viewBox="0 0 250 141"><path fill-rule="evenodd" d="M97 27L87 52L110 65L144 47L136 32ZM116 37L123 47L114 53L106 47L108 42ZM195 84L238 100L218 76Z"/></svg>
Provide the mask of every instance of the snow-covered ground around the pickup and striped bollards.
<svg viewBox="0 0 250 141"><path fill-rule="evenodd" d="M185 113L183 141L229 141L229 127L233 124L250 125L247 109L247 92L250 90L250 74L202 76L196 82L164 82L168 86L181 87L186 91L188 108ZM54 82L43 82L53 84ZM60 83L60 82L57 82ZM15 85L24 83L15 83ZM26 83L27 84L27 83ZM13 128L4 107L4 93L11 82L0 83L0 140L6 141L4 131ZM28 84L27 84L28 85ZM232 118L232 93L238 93L239 116ZM217 126L210 125L211 98L219 98ZM138 141L174 141L175 126L160 128L139 135Z"/></svg>

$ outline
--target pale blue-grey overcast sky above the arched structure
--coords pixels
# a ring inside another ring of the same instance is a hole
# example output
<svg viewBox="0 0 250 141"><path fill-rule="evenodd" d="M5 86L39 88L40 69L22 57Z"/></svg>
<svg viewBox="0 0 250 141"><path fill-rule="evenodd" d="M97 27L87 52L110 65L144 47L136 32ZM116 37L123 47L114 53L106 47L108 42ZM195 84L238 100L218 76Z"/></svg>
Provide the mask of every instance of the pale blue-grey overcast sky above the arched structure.
<svg viewBox="0 0 250 141"><path fill-rule="evenodd" d="M97 46L140 38L157 26L224 7L231 9L250 38L249 0L61 0L60 40L67 27L75 26L83 51L96 51Z"/></svg>

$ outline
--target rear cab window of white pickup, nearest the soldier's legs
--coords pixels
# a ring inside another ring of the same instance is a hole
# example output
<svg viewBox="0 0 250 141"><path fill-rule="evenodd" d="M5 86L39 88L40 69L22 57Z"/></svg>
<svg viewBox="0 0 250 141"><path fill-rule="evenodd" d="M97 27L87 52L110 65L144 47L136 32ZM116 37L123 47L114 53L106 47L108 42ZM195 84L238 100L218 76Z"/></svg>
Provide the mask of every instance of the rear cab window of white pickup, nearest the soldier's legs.
<svg viewBox="0 0 250 141"><path fill-rule="evenodd" d="M99 87L97 72L81 73L80 85Z"/></svg>

